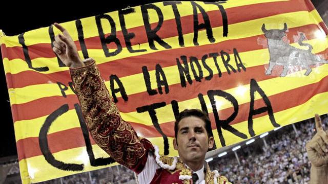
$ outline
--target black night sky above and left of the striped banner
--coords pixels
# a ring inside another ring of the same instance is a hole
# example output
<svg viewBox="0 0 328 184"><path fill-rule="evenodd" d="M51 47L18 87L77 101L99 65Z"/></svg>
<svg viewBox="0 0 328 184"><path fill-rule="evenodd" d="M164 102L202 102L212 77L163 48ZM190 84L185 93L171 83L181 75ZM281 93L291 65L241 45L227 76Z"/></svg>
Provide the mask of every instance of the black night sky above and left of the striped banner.
<svg viewBox="0 0 328 184"><path fill-rule="evenodd" d="M315 6L319 5L320 1L321 0L312 0ZM55 3L51 5L31 4L31 2L28 4L26 3L26 5L18 2L9 3L6 7L2 6L2 11L0 11L0 29L2 29L6 35L13 36L33 29L48 27L53 24L53 22L66 22L127 8L128 6L133 7L162 1L117 1L120 3L119 5L112 5L110 2L113 1L105 1L102 3L76 3L72 5ZM17 7L17 4L19 4L19 7ZM2 124L2 127L0 128L0 157L3 157L17 155L17 152L3 62L0 64L0 70L0 116L2 119L2 121L0 121Z"/></svg>

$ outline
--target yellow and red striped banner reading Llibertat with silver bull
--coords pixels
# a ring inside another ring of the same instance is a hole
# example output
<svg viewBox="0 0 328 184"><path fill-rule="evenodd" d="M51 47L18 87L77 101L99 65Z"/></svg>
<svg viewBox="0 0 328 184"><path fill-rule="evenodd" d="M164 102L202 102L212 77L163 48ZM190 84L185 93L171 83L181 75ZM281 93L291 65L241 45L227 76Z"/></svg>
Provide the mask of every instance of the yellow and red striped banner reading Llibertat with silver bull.
<svg viewBox="0 0 328 184"><path fill-rule="evenodd" d="M328 30L310 0L169 1L60 24L139 136L173 149L175 115L209 113L216 147L328 112ZM90 137L53 26L1 33L23 183L115 165Z"/></svg>

